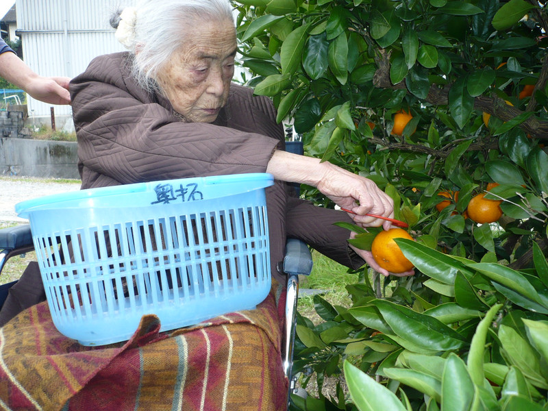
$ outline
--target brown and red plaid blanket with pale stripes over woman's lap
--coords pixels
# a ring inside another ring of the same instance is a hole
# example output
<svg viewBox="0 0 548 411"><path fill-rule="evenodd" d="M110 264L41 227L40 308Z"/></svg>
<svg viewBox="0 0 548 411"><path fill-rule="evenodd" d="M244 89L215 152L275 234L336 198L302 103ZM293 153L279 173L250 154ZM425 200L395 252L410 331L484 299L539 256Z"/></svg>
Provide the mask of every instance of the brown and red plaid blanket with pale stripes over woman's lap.
<svg viewBox="0 0 548 411"><path fill-rule="evenodd" d="M37 304L0 328L0 409L284 410L283 299L273 286L256 310L173 332L143 316L129 341L102 347L62 336Z"/></svg>

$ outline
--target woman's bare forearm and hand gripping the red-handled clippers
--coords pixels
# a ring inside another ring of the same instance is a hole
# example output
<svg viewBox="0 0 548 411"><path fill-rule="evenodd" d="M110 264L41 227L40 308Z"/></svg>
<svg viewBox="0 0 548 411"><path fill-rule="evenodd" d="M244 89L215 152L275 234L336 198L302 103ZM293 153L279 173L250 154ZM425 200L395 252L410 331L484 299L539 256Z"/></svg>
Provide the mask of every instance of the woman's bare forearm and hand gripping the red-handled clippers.
<svg viewBox="0 0 548 411"><path fill-rule="evenodd" d="M394 204L370 179L341 169L318 158L276 150L266 167L276 179L314 186L341 208L351 210L353 221L363 227L390 228L390 221L364 214L394 216Z"/></svg>

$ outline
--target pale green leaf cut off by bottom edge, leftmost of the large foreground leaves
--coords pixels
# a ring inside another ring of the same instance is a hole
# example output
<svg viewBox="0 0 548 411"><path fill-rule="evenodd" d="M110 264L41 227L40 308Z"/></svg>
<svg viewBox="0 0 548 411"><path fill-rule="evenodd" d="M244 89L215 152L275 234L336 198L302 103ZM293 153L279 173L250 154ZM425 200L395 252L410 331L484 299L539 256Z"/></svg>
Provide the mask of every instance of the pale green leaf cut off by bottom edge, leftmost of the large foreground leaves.
<svg viewBox="0 0 548 411"><path fill-rule="evenodd" d="M360 411L407 411L396 395L345 360L345 381L353 403Z"/></svg>

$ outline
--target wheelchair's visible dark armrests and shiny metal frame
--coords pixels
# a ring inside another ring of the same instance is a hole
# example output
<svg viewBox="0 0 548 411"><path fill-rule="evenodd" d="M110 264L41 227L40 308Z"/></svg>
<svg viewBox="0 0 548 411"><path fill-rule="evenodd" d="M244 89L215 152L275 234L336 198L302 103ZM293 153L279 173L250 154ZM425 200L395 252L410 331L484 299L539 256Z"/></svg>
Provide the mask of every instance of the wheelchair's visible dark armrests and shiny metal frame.
<svg viewBox="0 0 548 411"><path fill-rule="evenodd" d="M34 244L30 225L25 224L0 229L0 273L10 258L21 256L32 250L34 250ZM312 256L308 246L301 240L288 239L284 260L279 263L277 269L287 275L282 363L289 382L287 398L289 406L289 397L296 389L295 384L297 381L297 378L292 375L292 355L297 323L299 275L309 275L312 270ZM0 285L0 308L14 284L16 284L16 281Z"/></svg>

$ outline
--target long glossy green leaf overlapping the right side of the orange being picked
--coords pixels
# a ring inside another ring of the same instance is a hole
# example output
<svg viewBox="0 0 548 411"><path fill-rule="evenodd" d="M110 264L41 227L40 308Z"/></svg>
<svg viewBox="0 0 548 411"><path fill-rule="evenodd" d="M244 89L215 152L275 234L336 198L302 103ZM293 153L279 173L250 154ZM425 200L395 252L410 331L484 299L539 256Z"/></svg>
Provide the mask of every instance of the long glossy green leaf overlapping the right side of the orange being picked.
<svg viewBox="0 0 548 411"><path fill-rule="evenodd" d="M403 255L421 271L421 273L436 279L438 282L453 284L456 273L461 270L466 273L471 271L461 262L455 260L447 254L440 253L435 249L426 247L419 242L401 238L398 245Z"/></svg>

